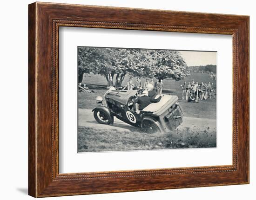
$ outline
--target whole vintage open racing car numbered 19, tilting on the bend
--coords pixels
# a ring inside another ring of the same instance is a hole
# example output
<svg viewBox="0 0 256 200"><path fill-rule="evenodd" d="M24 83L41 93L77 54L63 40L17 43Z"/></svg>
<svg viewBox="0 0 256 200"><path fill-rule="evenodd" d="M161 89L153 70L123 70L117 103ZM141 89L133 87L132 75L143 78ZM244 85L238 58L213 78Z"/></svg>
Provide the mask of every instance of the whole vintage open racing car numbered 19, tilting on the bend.
<svg viewBox="0 0 256 200"><path fill-rule="evenodd" d="M92 110L98 123L113 124L114 116L145 132L169 132L182 123L182 109L178 97L163 95L158 103L151 103L137 114L133 109L133 101L143 90L108 90L103 98L97 97L99 104Z"/></svg>

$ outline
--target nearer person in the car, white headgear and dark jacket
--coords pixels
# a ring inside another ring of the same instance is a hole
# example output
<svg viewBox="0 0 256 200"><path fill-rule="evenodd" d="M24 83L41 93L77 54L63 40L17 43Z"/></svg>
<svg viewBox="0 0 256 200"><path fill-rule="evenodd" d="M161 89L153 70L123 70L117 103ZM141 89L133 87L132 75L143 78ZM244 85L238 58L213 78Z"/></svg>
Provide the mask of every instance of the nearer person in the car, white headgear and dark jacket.
<svg viewBox="0 0 256 200"><path fill-rule="evenodd" d="M139 114L140 110L146 108L150 103L157 103L161 100L162 97L158 97L157 99L153 99L148 97L148 91L144 90L142 94L139 94L139 97L136 98L133 102L133 108L137 114Z"/></svg>

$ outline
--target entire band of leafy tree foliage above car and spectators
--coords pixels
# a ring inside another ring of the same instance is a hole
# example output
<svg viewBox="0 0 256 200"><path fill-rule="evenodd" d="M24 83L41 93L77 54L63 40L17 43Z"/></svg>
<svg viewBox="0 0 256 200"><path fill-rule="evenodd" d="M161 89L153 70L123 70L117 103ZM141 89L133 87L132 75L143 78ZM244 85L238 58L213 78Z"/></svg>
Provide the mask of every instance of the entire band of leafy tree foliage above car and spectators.
<svg viewBox="0 0 256 200"><path fill-rule="evenodd" d="M181 79L186 76L187 65L177 51L121 49L121 48L78 48L79 74L101 74L108 80L125 75Z"/></svg>

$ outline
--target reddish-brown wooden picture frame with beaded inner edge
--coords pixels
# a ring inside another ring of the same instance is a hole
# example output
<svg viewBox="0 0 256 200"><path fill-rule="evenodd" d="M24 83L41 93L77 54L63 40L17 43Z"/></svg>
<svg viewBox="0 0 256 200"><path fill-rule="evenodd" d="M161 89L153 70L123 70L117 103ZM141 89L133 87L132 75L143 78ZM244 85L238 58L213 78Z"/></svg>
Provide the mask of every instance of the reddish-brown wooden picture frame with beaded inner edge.
<svg viewBox="0 0 256 200"><path fill-rule="evenodd" d="M99 194L249 183L249 16L33 3L28 6L28 194ZM233 164L59 174L60 26L233 36Z"/></svg>

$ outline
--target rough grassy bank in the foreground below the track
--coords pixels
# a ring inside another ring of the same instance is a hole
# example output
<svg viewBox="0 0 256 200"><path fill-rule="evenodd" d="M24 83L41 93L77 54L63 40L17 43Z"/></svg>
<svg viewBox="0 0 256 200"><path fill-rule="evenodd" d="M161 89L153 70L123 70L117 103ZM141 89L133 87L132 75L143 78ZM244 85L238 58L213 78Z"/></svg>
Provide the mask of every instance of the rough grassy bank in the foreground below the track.
<svg viewBox="0 0 256 200"><path fill-rule="evenodd" d="M78 128L79 152L210 147L216 147L216 129L186 128L171 133L147 134L140 131Z"/></svg>

